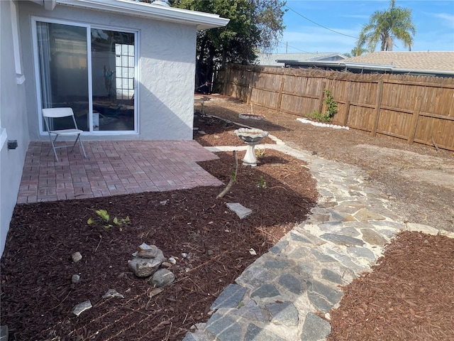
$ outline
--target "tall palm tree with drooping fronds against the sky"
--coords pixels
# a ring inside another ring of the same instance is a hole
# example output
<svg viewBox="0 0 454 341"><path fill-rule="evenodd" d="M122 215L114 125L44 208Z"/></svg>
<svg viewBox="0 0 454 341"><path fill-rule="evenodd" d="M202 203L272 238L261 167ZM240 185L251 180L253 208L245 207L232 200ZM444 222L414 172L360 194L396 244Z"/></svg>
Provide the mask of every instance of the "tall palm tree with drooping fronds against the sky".
<svg viewBox="0 0 454 341"><path fill-rule="evenodd" d="M394 40L402 40L404 48L413 44L416 28L411 20L411 9L395 6L395 0L389 2L389 9L375 11L369 23L362 26L355 50L360 51L367 45L369 52L374 52L378 42L382 43L382 51L392 51Z"/></svg>

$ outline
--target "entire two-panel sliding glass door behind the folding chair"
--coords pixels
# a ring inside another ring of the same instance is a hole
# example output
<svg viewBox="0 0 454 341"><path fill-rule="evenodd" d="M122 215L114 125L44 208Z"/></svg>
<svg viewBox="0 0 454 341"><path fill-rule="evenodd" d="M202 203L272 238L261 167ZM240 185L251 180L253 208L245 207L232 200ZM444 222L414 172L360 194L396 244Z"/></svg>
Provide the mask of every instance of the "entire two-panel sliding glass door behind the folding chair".
<svg viewBox="0 0 454 341"><path fill-rule="evenodd" d="M134 32L39 20L35 30L41 108L72 107L93 134L137 131Z"/></svg>

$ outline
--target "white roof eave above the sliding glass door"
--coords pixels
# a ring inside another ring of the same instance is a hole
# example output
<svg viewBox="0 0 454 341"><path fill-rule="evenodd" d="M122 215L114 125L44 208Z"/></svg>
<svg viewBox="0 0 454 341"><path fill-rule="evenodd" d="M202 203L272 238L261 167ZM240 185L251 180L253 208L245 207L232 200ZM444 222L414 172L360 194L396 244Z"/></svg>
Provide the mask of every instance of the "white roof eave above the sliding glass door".
<svg viewBox="0 0 454 341"><path fill-rule="evenodd" d="M79 7L83 9L95 9L108 13L122 14L150 18L159 21L182 23L196 26L198 30L226 26L229 19L221 18L217 14L177 9L175 7L162 6L161 4L148 4L135 0L31 0L45 6L45 9L54 9L55 5Z"/></svg>

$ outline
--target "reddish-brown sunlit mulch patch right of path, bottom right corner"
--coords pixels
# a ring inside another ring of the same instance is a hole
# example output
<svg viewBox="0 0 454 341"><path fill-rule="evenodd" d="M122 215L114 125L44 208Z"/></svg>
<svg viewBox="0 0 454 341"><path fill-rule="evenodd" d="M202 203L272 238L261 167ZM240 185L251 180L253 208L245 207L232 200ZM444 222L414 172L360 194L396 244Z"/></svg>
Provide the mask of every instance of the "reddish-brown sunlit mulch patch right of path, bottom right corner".
<svg viewBox="0 0 454 341"><path fill-rule="evenodd" d="M401 232L343 288L329 341L454 340L454 239Z"/></svg>

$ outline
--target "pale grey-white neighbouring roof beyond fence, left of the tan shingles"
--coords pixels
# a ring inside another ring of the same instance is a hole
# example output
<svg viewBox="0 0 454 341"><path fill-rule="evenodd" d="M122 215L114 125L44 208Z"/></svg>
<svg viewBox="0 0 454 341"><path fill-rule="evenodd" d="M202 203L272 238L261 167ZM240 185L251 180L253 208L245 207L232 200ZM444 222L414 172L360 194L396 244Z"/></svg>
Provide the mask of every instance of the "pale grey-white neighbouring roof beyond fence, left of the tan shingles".
<svg viewBox="0 0 454 341"><path fill-rule="evenodd" d="M284 66L277 60L293 60L295 62L304 60L342 60L345 55L341 53L259 53L255 62L259 65Z"/></svg>

